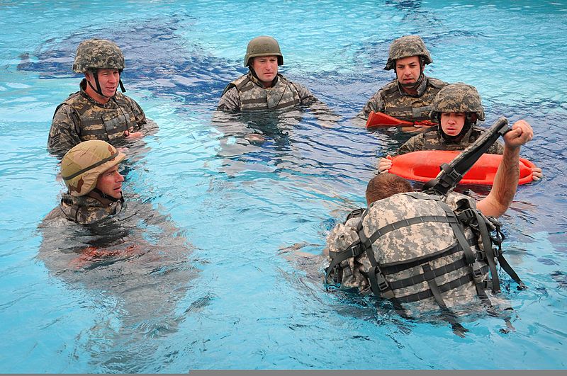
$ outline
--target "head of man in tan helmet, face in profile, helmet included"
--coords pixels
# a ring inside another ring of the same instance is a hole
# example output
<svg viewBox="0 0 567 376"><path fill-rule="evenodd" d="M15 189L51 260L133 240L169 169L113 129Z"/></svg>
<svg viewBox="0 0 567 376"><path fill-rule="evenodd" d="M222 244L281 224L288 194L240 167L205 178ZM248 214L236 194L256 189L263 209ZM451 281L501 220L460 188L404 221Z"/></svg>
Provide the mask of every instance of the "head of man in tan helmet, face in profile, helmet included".
<svg viewBox="0 0 567 376"><path fill-rule="evenodd" d="M118 172L118 164L124 158L125 154L108 142L84 141L63 156L61 176L71 195L120 200L124 178Z"/></svg>

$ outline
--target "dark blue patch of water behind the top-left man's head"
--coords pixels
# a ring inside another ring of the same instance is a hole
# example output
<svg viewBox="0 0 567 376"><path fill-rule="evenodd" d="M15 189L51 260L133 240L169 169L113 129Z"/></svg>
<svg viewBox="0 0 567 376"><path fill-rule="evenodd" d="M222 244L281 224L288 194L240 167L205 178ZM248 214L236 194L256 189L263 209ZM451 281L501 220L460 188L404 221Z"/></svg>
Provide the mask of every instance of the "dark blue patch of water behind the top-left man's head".
<svg viewBox="0 0 567 376"><path fill-rule="evenodd" d="M47 40L33 52L22 52L17 69L39 72L40 79L77 76L72 64L79 43L87 38L111 39L125 56L122 78L127 90L149 90L156 97L182 103L216 103L225 85L241 73L236 63L207 55L197 42L187 45L177 31L192 19L176 14L142 24L130 21L111 28L86 27L62 40Z"/></svg>

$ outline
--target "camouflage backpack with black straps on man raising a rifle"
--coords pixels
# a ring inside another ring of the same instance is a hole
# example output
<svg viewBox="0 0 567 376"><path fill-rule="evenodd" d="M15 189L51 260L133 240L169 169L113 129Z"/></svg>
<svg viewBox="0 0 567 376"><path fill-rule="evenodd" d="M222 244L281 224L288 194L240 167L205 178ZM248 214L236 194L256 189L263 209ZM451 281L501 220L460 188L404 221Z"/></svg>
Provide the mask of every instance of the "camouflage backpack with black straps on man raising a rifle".
<svg viewBox="0 0 567 376"><path fill-rule="evenodd" d="M459 193L398 193L378 200L344 239L354 241L340 250L329 244L326 278L344 287L369 286L395 307L420 302L447 309L475 296L489 302L485 290L500 291L497 262L523 285L502 256L498 222ZM366 283L357 286L361 275Z"/></svg>

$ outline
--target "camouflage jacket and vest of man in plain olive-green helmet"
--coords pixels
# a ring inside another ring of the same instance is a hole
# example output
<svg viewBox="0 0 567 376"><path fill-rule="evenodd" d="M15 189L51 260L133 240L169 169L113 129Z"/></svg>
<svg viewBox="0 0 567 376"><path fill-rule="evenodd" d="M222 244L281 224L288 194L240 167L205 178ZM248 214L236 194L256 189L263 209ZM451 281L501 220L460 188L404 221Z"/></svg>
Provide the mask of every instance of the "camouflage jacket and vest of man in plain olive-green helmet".
<svg viewBox="0 0 567 376"><path fill-rule="evenodd" d="M279 110L309 105L318 101L313 94L278 74L276 83L269 88L248 72L226 86L218 102L218 110L242 112L254 110Z"/></svg>

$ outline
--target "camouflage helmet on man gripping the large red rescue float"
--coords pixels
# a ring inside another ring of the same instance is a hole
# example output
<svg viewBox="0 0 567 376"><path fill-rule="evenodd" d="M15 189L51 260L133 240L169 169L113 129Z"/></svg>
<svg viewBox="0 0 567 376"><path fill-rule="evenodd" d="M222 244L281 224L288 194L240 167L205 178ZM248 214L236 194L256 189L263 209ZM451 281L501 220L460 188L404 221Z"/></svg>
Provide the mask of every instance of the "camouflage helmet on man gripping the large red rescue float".
<svg viewBox="0 0 567 376"><path fill-rule="evenodd" d="M481 96L474 86L462 82L444 86L433 99L430 114L432 121L439 123L442 113L475 113L477 120L484 120Z"/></svg>

